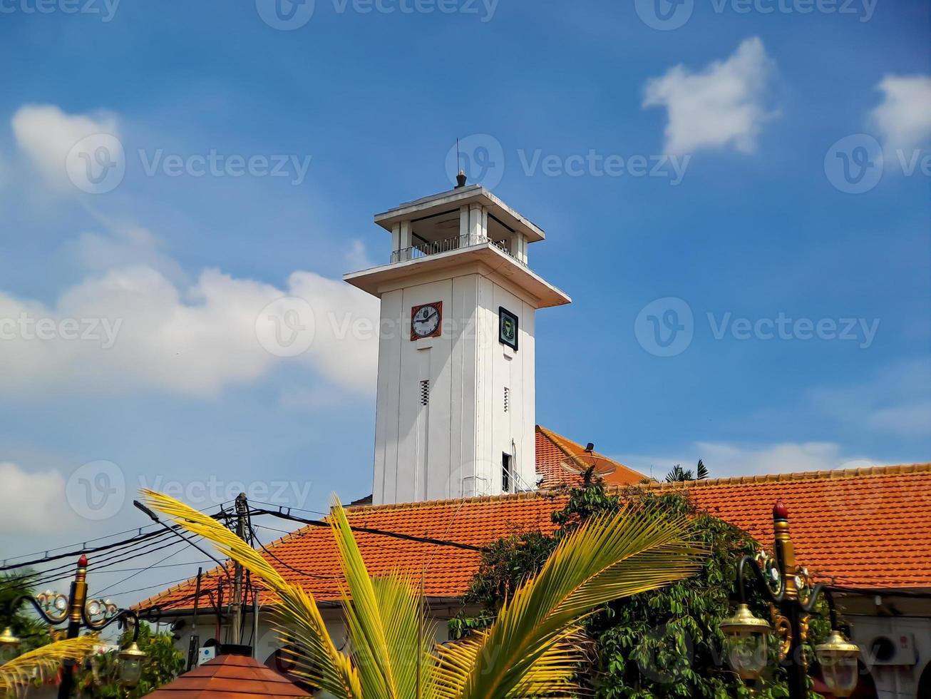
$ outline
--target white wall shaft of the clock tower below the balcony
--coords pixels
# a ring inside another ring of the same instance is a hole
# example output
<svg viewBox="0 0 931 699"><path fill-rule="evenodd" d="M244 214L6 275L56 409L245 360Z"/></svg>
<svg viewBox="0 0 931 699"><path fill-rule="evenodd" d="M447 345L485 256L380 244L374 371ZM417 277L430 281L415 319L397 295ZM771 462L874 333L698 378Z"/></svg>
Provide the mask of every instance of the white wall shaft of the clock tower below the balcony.
<svg viewBox="0 0 931 699"><path fill-rule="evenodd" d="M453 274L382 295L375 504L500 494L503 454L513 457L511 490L533 487L534 308L503 283ZM412 341L411 309L437 301L440 336ZM516 352L498 340L502 306L519 317Z"/></svg>

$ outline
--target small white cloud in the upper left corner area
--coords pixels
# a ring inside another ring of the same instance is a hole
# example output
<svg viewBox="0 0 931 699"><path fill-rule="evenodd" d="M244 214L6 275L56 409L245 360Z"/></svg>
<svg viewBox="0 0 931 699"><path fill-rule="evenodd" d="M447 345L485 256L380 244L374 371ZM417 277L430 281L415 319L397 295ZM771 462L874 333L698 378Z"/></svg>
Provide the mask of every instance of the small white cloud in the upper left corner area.
<svg viewBox="0 0 931 699"><path fill-rule="evenodd" d="M34 169L54 189L72 187L65 161L75 144L100 133L119 137L116 118L108 114L65 114L54 104L27 104L12 119L16 142Z"/></svg>

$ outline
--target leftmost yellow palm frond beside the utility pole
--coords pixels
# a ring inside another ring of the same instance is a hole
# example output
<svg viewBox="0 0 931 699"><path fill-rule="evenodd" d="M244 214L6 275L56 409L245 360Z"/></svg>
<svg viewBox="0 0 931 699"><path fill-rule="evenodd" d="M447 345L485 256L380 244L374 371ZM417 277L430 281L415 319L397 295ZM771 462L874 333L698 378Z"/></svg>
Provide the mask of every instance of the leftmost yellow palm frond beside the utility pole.
<svg viewBox="0 0 931 699"><path fill-rule="evenodd" d="M249 570L275 594L279 635L304 651L293 658L302 677L339 699L361 697L357 668L349 656L336 649L313 595L286 581L262 555L212 517L154 490L143 489L142 499L180 527L210 541L223 556Z"/></svg>

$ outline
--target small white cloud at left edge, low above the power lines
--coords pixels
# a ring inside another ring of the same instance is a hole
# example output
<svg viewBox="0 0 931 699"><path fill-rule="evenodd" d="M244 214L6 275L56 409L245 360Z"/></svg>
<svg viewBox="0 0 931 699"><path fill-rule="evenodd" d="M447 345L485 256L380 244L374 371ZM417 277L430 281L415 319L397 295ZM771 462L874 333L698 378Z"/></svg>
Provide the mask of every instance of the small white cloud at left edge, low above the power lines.
<svg viewBox="0 0 931 699"><path fill-rule="evenodd" d="M15 463L0 461L0 530L12 534L51 533L61 525L64 478L47 471L27 473Z"/></svg>

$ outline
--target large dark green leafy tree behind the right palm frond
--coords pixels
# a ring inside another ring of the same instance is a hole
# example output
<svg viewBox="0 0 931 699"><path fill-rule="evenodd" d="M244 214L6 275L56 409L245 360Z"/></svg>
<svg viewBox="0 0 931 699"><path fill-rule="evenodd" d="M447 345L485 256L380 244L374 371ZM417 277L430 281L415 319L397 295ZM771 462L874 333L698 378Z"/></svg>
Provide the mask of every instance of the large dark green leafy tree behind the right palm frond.
<svg viewBox="0 0 931 699"><path fill-rule="evenodd" d="M747 689L725 663L719 624L731 613L730 597L740 556L754 553L759 546L740 529L696 511L678 489L655 492L632 487L614 495L595 482L571 491L565 508L552 515L558 526L552 536L526 532L488 547L465 599L472 609L479 605L481 612L462 613L453 619L452 637L487 624L502 601L546 561L559 541L589 518L615 512L625 503L648 513L661 511L668 516L695 519L710 554L695 576L616 600L588 617L585 630L594 641L595 651L579 666L579 675L596 696L611 699L747 695ZM750 601L754 613L769 617L762 596ZM820 640L827 635L828 627L825 610L817 610L812 617L811 637ZM785 672L776 662L775 637L771 637L770 646L770 675L755 689L762 697L788 696ZM809 657L814 656L810 653Z"/></svg>

